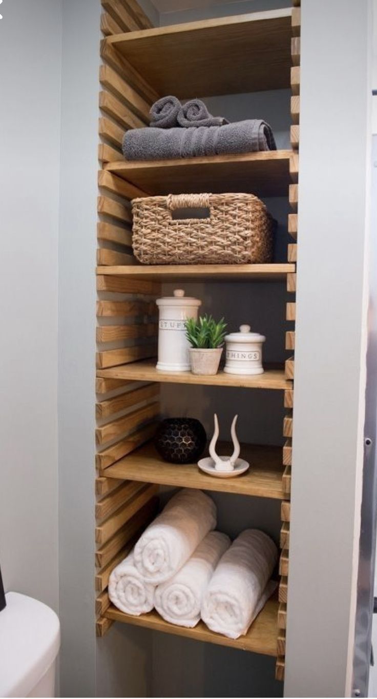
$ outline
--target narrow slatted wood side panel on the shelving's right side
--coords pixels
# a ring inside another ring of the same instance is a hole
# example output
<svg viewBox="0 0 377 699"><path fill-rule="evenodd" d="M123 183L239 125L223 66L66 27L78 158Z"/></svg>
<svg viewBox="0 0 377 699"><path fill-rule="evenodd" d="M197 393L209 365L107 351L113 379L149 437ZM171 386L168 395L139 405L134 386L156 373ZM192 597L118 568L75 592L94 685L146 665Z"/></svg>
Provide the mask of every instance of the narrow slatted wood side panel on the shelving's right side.
<svg viewBox="0 0 377 699"><path fill-rule="evenodd" d="M301 8L300 0L293 0L292 10L292 68L290 69L290 85L292 96L290 99L290 113L292 126L290 127L290 145L293 154L290 157L290 177L292 184L289 187L290 214L288 215L288 233L295 242L288 245L288 261L297 262L298 239L298 195L299 195L299 145L300 145L300 24ZM286 331L286 350L289 352L285 363L285 373L289 380L295 378L295 319L296 319L296 273L287 275L287 291L289 300L286 308L286 320L289 328ZM279 614L278 614L278 657L276 660L276 679L284 679L284 665L286 654L286 614L288 599L288 572L289 572L289 537L290 537L290 484L292 479L292 437L294 415L294 387L284 392L284 408L286 415L283 420L283 435L286 442L283 446L283 491L287 500L281 503L281 531L279 561Z"/></svg>

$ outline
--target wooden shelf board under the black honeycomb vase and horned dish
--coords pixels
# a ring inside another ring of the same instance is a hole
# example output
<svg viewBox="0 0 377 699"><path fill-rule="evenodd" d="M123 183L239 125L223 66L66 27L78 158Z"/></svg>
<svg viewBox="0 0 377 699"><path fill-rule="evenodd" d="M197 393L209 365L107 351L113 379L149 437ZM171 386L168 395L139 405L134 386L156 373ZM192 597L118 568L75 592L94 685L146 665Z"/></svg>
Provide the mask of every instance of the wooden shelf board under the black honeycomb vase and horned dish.
<svg viewBox="0 0 377 699"><path fill-rule="evenodd" d="M231 445L222 445L224 454L231 454ZM237 478L214 478L198 468L196 463L175 464L161 459L152 444L148 444L105 468L101 475L145 483L157 483L180 488L198 488L226 493L238 493L258 498L285 500L282 489L283 466L281 447L243 445L242 459L250 469Z"/></svg>

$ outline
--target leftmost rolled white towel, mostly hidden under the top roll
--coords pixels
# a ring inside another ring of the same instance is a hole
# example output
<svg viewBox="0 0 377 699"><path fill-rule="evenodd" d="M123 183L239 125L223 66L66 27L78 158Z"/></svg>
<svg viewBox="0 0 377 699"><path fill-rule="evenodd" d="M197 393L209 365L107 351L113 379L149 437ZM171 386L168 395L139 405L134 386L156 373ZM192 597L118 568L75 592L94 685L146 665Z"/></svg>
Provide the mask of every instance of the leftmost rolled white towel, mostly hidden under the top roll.
<svg viewBox="0 0 377 699"><path fill-rule="evenodd" d="M109 579L109 597L121 612L139 617L153 609L154 585L145 582L136 570L134 549L112 570Z"/></svg>

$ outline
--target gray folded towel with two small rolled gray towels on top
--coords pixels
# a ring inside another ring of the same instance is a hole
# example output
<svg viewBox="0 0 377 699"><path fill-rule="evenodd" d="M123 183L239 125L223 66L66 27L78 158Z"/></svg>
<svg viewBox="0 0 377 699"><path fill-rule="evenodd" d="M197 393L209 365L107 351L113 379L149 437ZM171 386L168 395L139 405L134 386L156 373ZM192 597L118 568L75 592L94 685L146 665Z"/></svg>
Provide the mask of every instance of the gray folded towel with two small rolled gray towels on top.
<svg viewBox="0 0 377 699"><path fill-rule="evenodd" d="M165 160L207 155L276 150L274 134L261 119L230 124L213 117L205 103L191 99L182 105L174 96L158 99L150 110L150 126L126 131L127 160Z"/></svg>

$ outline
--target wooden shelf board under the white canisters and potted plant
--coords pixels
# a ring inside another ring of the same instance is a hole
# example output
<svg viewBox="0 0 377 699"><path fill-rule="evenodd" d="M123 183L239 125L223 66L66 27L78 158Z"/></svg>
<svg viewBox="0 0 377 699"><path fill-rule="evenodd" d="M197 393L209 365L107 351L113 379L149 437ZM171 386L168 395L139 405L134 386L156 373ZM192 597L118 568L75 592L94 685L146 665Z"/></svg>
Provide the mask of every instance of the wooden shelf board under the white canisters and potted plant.
<svg viewBox="0 0 377 699"><path fill-rule="evenodd" d="M156 381L170 384L196 384L199 386L237 386L252 389L290 389L292 381L287 381L283 369L268 369L256 376L237 376L219 371L214 376L197 376L190 371L157 371L156 359L134 361L129 364L98 369L97 376L104 379L131 381Z"/></svg>

